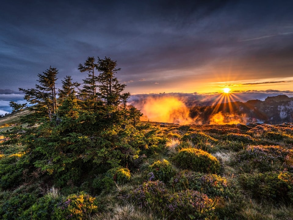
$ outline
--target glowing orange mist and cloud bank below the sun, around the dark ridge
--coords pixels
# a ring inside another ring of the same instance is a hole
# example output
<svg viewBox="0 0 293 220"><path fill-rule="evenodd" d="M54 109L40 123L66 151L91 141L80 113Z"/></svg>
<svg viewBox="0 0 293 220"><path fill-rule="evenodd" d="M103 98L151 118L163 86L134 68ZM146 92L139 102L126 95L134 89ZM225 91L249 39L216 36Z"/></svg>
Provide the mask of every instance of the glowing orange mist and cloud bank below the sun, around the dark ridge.
<svg viewBox="0 0 293 220"><path fill-rule="evenodd" d="M190 117L190 109L195 106L214 106L225 102L247 102L248 100L264 101L269 96L287 95L293 97L293 91L232 91L230 99L221 98L223 93L167 93L167 94L136 94L132 95L128 104L140 109L143 120L178 124L245 124L246 115L212 112L209 119L200 114ZM202 109L204 111L204 108Z"/></svg>

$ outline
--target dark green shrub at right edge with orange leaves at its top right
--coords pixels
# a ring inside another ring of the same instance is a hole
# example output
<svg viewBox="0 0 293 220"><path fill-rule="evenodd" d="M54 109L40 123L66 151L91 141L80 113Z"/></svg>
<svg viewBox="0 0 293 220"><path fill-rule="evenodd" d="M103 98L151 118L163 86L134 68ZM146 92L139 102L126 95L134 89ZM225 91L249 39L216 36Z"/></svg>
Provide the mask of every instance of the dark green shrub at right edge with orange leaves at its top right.
<svg viewBox="0 0 293 220"><path fill-rule="evenodd" d="M244 174L241 184L256 200L293 203L293 174L290 172Z"/></svg>

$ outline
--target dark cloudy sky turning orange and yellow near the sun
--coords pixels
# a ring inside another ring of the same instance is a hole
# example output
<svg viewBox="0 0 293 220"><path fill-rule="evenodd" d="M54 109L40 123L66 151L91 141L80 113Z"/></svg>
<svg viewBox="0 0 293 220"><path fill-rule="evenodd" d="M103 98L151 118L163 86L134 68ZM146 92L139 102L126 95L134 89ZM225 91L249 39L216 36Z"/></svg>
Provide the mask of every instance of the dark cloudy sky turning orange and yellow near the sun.
<svg viewBox="0 0 293 220"><path fill-rule="evenodd" d="M293 1L8 1L0 89L32 88L50 66L110 57L131 94L291 91Z"/></svg>

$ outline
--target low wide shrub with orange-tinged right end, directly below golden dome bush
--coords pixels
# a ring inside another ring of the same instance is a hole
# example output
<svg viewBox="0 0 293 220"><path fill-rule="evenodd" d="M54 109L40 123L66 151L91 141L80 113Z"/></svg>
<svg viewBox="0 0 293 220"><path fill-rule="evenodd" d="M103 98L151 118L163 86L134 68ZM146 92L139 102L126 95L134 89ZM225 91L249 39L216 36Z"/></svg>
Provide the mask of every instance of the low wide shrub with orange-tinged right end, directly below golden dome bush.
<svg viewBox="0 0 293 220"><path fill-rule="evenodd" d="M228 197L231 194L227 179L216 174L183 171L173 177L170 184L176 191L196 190L209 197Z"/></svg>

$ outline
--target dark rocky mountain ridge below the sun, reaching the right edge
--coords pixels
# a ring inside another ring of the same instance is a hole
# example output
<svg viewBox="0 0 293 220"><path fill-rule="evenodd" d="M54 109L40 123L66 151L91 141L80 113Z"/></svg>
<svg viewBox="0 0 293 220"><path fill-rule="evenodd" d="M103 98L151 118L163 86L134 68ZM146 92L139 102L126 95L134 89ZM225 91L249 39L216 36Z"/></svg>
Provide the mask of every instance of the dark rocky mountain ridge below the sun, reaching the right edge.
<svg viewBox="0 0 293 220"><path fill-rule="evenodd" d="M293 122L293 98L286 95L267 97L264 101L220 103L213 106L190 107L190 117L201 120L201 124L210 124L213 115L237 115L246 122L262 121L267 124Z"/></svg>

